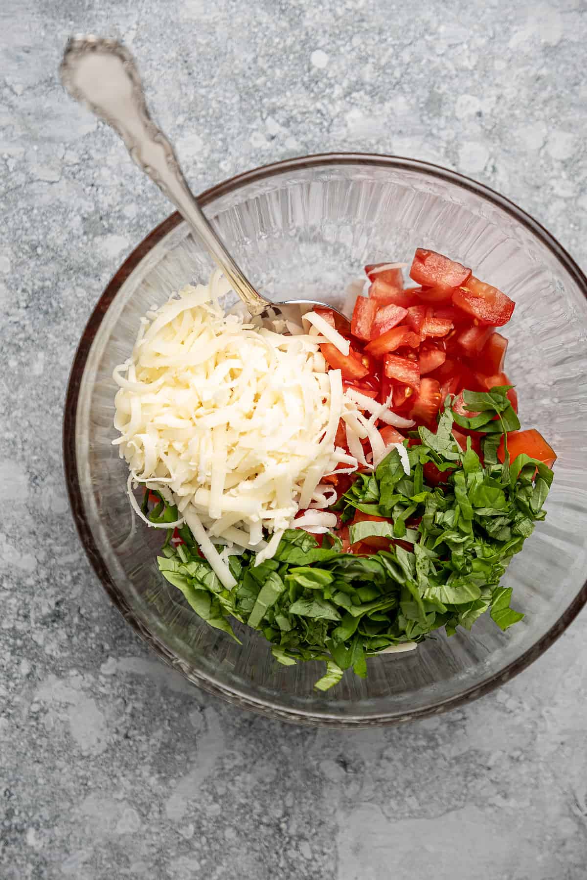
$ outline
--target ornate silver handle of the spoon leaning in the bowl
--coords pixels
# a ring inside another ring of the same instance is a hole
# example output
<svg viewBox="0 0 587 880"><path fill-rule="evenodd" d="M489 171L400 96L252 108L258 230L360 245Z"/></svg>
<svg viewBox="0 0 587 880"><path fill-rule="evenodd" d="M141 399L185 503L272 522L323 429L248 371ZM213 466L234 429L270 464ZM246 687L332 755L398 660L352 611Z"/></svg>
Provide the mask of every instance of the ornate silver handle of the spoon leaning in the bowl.
<svg viewBox="0 0 587 880"><path fill-rule="evenodd" d="M267 300L254 290L202 214L171 143L151 119L136 62L128 49L117 40L73 37L65 48L60 72L70 95L114 128L136 165L173 202L249 312L263 312Z"/></svg>

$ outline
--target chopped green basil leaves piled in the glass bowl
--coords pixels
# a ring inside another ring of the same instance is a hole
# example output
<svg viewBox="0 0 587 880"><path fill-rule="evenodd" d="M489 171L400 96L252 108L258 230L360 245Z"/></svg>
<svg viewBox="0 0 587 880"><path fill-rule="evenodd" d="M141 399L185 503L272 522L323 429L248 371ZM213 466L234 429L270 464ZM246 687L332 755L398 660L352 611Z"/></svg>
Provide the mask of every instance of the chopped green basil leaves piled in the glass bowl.
<svg viewBox="0 0 587 880"><path fill-rule="evenodd" d="M424 427L414 433L420 444L407 450L409 477L394 449L374 474L359 474L336 503L343 523L355 510L391 520L349 527L351 544L372 535L399 539L389 550L343 553L334 533L319 546L311 534L290 529L274 558L257 567L251 552L231 556L237 586L226 590L183 526L183 545L173 547L167 533L161 573L210 626L235 639L231 618L259 630L279 663L326 661L326 674L315 685L322 691L350 667L365 677L366 658L381 649L422 642L439 627L449 635L459 625L470 629L486 611L507 629L524 615L510 608L511 589L500 580L534 522L546 516L553 479L550 468L526 455L510 464L506 451L503 465L498 461L503 434L519 428L509 387L463 392L467 409L478 413L472 417L453 413L449 399L436 433ZM482 465L470 438L460 450L453 421L483 436ZM426 485L428 462L448 472L445 484ZM160 498L150 517L172 522L177 510Z"/></svg>

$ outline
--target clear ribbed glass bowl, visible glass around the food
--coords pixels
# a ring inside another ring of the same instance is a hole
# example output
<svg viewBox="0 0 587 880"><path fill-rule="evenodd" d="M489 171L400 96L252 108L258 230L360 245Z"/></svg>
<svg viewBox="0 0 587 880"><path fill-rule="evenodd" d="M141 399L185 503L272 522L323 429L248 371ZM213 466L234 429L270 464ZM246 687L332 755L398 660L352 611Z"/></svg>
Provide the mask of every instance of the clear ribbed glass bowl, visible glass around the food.
<svg viewBox="0 0 587 880"><path fill-rule="evenodd" d="M366 262L409 260L431 247L473 267L516 301L507 370L522 423L558 452L548 516L505 583L525 619L502 633L488 616L472 633L437 634L416 651L369 661L317 693L321 664L283 667L245 627L242 647L207 627L159 576L161 532L132 523L127 469L114 437L114 365L139 318L209 258L174 214L150 233L99 300L77 351L64 423L70 500L106 591L158 655L210 693L287 721L337 727L405 722L473 700L546 650L587 600L587 280L532 218L481 184L403 158L325 155L241 174L202 207L253 283L276 299L341 303Z"/></svg>

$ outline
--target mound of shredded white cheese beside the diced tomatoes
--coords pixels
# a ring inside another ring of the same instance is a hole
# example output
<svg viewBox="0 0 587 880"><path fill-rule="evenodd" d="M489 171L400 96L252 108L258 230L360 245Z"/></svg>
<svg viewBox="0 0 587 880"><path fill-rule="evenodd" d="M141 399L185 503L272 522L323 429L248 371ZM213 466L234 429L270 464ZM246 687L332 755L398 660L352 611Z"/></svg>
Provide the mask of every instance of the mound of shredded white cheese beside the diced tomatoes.
<svg viewBox="0 0 587 880"><path fill-rule="evenodd" d="M320 480L365 465L365 437L376 466L389 448L375 419L398 422L389 407L343 393L341 371L327 370L319 343L348 352L349 342L327 322L312 316L314 335L301 322L288 325L290 335L246 324L218 304L228 290L214 273L209 285L185 287L142 319L132 356L114 370L114 444L128 462L137 514L133 483L177 504L177 522L155 527L186 522L230 588L227 554L246 547L267 559L298 510L312 509L296 525L333 528L334 514L320 510L333 500L331 487ZM334 443L341 417L351 455ZM273 532L268 542L263 529Z"/></svg>

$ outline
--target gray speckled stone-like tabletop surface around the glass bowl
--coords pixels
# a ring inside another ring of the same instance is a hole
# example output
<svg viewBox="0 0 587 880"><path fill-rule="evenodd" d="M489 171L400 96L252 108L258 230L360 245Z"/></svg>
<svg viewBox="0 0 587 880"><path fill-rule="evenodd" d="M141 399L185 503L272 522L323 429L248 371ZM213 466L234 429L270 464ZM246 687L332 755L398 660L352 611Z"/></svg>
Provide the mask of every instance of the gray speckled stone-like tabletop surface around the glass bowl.
<svg viewBox="0 0 587 880"><path fill-rule="evenodd" d="M71 32L121 35L196 191L371 150L483 180L587 262L583 0L4 0L0 6L0 876L581 880L587 617L468 708L303 730L150 656L84 558L68 370L114 269L169 212L66 99Z"/></svg>

